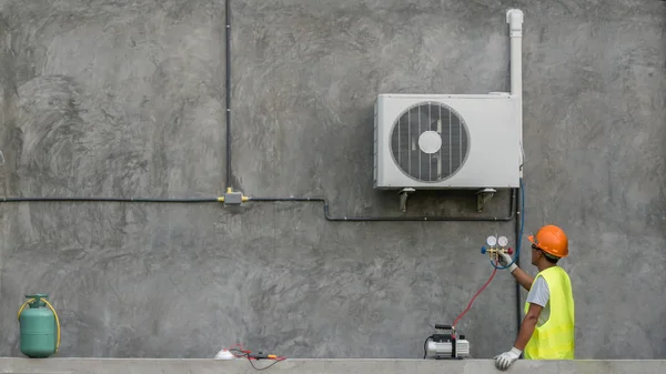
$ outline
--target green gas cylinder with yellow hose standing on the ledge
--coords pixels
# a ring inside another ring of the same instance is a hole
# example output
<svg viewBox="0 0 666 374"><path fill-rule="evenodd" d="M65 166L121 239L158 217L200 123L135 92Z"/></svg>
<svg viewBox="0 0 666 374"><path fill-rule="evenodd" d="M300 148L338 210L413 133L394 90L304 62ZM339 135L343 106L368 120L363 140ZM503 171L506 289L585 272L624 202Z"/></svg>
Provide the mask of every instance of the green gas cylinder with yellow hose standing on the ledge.
<svg viewBox="0 0 666 374"><path fill-rule="evenodd" d="M21 352L31 358L53 355L60 345L60 321L47 294L26 295L19 310ZM29 307L26 309L26 305Z"/></svg>

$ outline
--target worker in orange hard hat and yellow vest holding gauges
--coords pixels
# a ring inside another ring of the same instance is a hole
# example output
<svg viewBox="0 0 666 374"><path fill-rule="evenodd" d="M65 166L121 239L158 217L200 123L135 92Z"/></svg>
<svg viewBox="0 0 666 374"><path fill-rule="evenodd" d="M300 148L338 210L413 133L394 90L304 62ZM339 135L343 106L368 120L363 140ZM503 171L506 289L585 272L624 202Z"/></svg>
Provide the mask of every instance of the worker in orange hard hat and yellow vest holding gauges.
<svg viewBox="0 0 666 374"><path fill-rule="evenodd" d="M532 277L515 263L507 267L516 281L528 291L525 317L511 351L495 356L498 370L506 370L521 354L525 360L574 360L574 296L568 274L557 265L568 255L568 239L556 225L541 228L532 242L532 264L538 274ZM512 262L501 252L500 263Z"/></svg>

